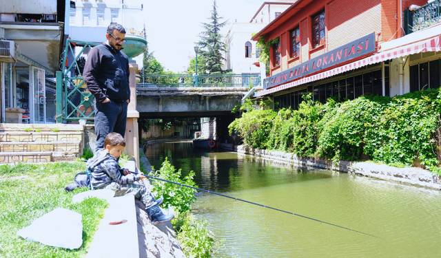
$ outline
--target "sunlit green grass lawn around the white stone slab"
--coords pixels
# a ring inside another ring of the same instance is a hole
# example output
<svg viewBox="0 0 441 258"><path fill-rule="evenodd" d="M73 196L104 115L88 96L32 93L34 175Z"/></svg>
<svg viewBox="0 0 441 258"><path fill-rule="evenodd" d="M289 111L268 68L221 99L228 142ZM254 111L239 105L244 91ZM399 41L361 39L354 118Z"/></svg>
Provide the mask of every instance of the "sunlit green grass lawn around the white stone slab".
<svg viewBox="0 0 441 258"><path fill-rule="evenodd" d="M76 173L85 170L85 162L0 165L0 257L83 257L108 206L105 200L90 198L72 204L77 188L64 188ZM21 228L55 208L67 208L82 215L83 245L76 250L45 246L17 235Z"/></svg>

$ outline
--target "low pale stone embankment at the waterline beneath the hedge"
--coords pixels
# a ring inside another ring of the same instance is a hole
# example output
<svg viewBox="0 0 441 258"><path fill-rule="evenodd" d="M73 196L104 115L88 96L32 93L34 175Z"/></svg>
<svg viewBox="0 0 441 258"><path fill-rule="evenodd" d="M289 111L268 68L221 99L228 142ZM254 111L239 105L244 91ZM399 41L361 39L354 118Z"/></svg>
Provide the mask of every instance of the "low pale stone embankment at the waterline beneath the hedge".
<svg viewBox="0 0 441 258"><path fill-rule="evenodd" d="M340 161L334 164L331 160L323 160L320 158L302 158L293 153L253 149L252 147L246 147L244 145L234 147L234 151L243 154L255 155L269 160L287 162L289 164L315 166L321 169L331 169L334 171L364 175L370 178L378 178L381 180L441 190L440 178L438 176L432 175L430 171L425 169L415 167L398 168L394 166L387 166L385 164L376 164L373 162L348 161Z"/></svg>

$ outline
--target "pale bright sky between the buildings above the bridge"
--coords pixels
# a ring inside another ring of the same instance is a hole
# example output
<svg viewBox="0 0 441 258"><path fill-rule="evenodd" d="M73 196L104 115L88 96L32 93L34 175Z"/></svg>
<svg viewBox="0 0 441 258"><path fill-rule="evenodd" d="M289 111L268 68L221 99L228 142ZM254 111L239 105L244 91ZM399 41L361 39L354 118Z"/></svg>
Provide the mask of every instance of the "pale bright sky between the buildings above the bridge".
<svg viewBox="0 0 441 258"><path fill-rule="evenodd" d="M221 29L225 36L232 23L249 22L264 0L216 0L218 15L227 21ZM202 23L209 23L213 10L212 0L169 0L148 1L144 3L144 10L140 15L132 17L132 28L145 30L149 52L154 52L156 60L165 67L165 71L182 72L187 69L189 60L194 58L195 42L203 32ZM130 27L125 24L125 27ZM250 36L251 38L251 36ZM139 67L142 58L134 58Z"/></svg>

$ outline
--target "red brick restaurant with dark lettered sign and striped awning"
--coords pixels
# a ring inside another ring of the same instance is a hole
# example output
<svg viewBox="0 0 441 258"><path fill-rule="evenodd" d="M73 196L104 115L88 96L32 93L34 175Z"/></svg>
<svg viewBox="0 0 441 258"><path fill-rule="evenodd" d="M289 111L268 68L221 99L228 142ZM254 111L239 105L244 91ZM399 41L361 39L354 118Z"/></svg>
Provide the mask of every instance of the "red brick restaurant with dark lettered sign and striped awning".
<svg viewBox="0 0 441 258"><path fill-rule="evenodd" d="M416 30L427 13L439 23L439 6L440 1L422 0L299 0L252 38L278 39L270 47L270 75L258 96L272 96L279 107L296 108L302 92L314 92L314 100L324 102L336 95L353 99L419 90L424 81L419 81L420 65L412 72L412 62L432 52L429 61L438 63L433 63L431 74L441 73L441 26L407 36L404 28ZM418 47L433 40L430 49ZM429 87L440 87L439 77Z"/></svg>

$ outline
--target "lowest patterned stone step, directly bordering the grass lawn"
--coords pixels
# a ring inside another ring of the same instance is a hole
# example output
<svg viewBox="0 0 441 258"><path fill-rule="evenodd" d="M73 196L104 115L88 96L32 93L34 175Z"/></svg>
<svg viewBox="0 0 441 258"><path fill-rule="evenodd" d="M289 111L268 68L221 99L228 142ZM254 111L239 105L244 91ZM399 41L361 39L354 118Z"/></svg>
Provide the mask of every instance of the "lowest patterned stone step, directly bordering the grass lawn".
<svg viewBox="0 0 441 258"><path fill-rule="evenodd" d="M5 163L41 163L74 161L78 153L72 151L28 151L28 152L0 152L0 164Z"/></svg>

